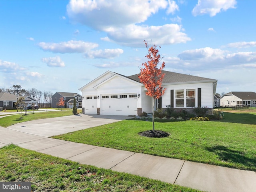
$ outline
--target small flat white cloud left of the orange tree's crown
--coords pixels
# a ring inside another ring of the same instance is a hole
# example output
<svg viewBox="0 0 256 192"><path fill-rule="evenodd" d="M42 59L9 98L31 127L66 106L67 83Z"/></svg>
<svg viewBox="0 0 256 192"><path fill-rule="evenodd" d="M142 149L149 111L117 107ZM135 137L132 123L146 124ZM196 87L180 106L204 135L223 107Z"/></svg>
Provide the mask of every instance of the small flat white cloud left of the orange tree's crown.
<svg viewBox="0 0 256 192"><path fill-rule="evenodd" d="M86 52L84 55L88 58L115 58L122 54L124 50L122 49L105 49L105 50L95 50Z"/></svg>

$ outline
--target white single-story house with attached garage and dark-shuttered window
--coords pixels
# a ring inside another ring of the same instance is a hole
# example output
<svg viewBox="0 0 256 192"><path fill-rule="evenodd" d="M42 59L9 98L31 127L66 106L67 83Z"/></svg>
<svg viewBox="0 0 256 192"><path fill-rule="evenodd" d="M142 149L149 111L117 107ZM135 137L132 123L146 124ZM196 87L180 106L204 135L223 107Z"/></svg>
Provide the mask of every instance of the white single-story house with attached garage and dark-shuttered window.
<svg viewBox="0 0 256 192"><path fill-rule="evenodd" d="M156 108L170 105L176 109L214 107L217 80L169 71L162 86L164 95L156 100ZM138 78L107 71L79 90L82 91L83 113L99 115L138 115L152 113L153 100Z"/></svg>

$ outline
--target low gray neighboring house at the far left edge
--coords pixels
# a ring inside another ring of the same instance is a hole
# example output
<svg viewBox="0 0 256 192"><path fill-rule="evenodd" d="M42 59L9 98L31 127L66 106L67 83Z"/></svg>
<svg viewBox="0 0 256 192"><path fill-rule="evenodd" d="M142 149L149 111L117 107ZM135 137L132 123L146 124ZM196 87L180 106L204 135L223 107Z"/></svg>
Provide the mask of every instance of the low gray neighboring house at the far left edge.
<svg viewBox="0 0 256 192"><path fill-rule="evenodd" d="M35 100L31 96L16 96L14 94L2 92L0 93L0 107L2 107L3 109L16 109L15 103L20 97L25 98L24 102L26 103L27 107L32 105L32 103L37 105L37 100Z"/></svg>

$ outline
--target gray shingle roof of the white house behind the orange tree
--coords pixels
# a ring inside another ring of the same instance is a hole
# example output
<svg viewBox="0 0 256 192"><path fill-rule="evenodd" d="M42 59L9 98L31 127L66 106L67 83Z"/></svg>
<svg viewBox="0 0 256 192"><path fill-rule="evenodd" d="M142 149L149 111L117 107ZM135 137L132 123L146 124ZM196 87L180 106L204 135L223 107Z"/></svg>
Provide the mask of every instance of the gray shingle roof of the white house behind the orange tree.
<svg viewBox="0 0 256 192"><path fill-rule="evenodd" d="M217 81L215 79L209 79L209 78L198 77L193 75L186 75L186 74L175 73L175 72L164 71L164 70L162 70L162 73L165 74L162 84L179 83L179 82ZM138 75L139 74L128 76L128 78L140 82Z"/></svg>

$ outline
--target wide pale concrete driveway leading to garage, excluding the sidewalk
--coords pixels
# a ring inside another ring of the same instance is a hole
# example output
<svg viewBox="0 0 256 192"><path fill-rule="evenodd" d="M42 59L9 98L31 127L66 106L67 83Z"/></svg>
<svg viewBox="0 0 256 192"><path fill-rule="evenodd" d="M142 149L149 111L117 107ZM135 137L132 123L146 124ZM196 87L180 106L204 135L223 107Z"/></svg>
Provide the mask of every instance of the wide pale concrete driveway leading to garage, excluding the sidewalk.
<svg viewBox="0 0 256 192"><path fill-rule="evenodd" d="M82 114L22 122L9 126L8 129L37 136L50 137L104 124L110 124L128 118L133 117Z"/></svg>

